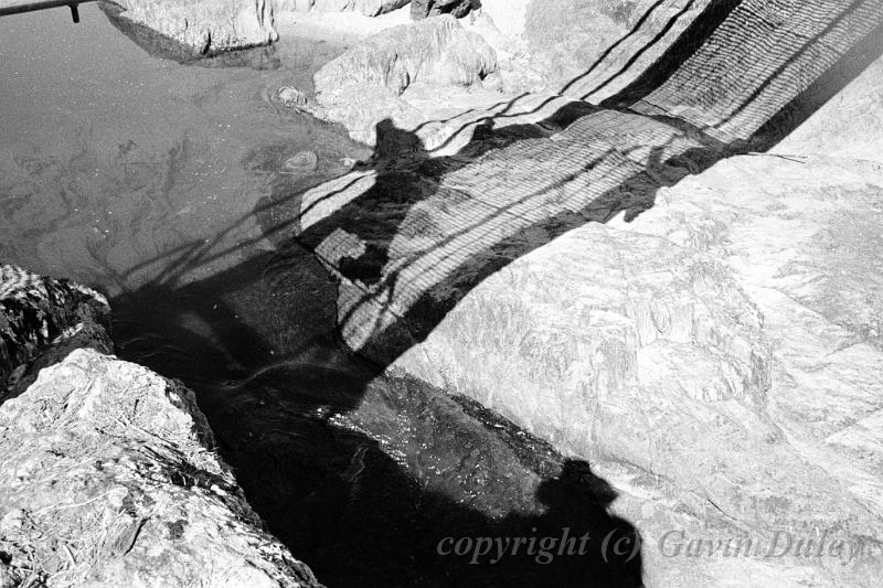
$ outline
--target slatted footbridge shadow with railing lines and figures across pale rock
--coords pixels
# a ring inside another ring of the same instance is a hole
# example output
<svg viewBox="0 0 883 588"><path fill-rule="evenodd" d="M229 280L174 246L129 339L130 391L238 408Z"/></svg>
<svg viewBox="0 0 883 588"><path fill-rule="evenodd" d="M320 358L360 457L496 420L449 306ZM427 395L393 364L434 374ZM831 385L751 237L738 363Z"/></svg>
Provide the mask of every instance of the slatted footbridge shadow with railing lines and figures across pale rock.
<svg viewBox="0 0 883 588"><path fill-rule="evenodd" d="M702 36L677 42L608 108L572 103L501 128L491 118L451 157L429 157L384 120L370 178L273 194L291 200L283 217L297 218L294 239L341 281L344 341L394 362L501 267L585 223L628 221L659 188L775 145L881 54L879 0L783 4L766 34L752 25L770 12L755 4L712 3L690 29ZM807 38L781 34L785 22ZM260 213L262 226L278 226L278 211Z"/></svg>

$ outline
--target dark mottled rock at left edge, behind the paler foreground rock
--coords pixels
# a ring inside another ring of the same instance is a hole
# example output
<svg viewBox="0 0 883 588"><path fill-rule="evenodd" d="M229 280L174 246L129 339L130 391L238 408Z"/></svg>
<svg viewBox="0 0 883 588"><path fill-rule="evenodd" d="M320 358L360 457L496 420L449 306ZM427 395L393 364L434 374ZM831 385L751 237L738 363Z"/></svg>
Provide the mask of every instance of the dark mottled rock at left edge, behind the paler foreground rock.
<svg viewBox="0 0 883 588"><path fill-rule="evenodd" d="M78 346L108 350L107 300L98 292L0 266L0 402Z"/></svg>

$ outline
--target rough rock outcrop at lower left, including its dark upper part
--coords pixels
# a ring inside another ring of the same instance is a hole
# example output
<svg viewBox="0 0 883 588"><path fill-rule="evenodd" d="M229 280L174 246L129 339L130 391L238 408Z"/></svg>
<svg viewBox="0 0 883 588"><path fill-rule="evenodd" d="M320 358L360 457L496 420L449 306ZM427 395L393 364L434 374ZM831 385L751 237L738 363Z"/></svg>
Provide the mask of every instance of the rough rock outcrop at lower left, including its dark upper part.
<svg viewBox="0 0 883 588"><path fill-rule="evenodd" d="M193 393L106 354L100 295L0 278L6 585L319 586L263 531Z"/></svg>

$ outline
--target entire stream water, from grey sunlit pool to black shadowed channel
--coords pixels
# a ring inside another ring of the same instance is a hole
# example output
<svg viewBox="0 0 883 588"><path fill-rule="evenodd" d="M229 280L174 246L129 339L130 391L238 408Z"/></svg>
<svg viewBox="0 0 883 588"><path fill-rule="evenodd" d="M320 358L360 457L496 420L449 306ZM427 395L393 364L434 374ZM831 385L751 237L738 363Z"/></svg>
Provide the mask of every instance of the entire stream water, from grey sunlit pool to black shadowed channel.
<svg viewBox="0 0 883 588"><path fill-rule="evenodd" d="M95 4L81 17L0 19L0 259L108 293L118 353L196 392L255 509L329 586L637 585L639 555L438 553L445 537L634 530L587 464L340 343L337 285L287 238L296 202L269 196L370 153L272 98L309 89L341 47L183 65ZM302 150L317 169L281 173Z"/></svg>

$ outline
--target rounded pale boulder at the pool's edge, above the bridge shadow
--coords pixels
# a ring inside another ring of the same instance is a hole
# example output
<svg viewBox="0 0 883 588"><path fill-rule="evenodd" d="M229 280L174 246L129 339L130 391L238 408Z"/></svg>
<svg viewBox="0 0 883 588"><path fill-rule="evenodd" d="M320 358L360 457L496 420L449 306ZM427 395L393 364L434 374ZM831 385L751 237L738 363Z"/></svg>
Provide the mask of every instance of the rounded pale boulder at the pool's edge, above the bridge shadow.
<svg viewBox="0 0 883 588"><path fill-rule="evenodd" d="M485 40L451 17L398 25L369 38L315 76L321 117L342 122L364 142L374 126L391 117L407 125L423 120L400 98L415 84L476 86L497 68Z"/></svg>

